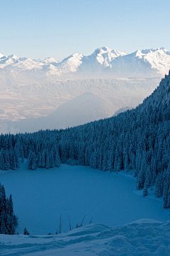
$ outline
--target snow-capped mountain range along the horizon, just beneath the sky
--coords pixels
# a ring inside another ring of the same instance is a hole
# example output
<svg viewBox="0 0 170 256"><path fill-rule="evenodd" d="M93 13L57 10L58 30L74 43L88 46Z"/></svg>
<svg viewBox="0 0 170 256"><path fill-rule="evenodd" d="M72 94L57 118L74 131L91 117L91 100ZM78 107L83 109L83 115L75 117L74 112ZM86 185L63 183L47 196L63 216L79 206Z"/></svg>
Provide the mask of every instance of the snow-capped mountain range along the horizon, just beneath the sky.
<svg viewBox="0 0 170 256"><path fill-rule="evenodd" d="M170 51L165 48L128 53L103 47L89 56L74 53L61 62L53 57L31 60L0 54L0 84L11 85L72 78L164 77L169 69Z"/></svg>

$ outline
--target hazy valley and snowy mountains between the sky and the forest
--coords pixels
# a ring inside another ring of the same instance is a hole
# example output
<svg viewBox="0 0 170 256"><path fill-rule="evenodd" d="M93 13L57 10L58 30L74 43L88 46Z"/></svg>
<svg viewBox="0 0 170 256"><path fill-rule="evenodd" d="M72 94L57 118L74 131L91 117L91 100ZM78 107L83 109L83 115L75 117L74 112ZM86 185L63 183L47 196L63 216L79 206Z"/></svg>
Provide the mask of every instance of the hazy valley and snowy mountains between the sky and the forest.
<svg viewBox="0 0 170 256"><path fill-rule="evenodd" d="M165 48L103 47L61 62L0 54L0 132L67 128L117 115L142 103L169 69Z"/></svg>

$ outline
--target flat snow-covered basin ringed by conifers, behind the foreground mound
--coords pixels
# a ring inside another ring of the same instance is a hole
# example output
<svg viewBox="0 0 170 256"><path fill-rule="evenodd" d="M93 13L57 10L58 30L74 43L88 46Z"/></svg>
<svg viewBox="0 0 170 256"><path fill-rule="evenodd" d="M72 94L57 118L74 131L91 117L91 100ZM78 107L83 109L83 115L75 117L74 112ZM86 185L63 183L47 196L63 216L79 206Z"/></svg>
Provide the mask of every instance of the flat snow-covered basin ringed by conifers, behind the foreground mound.
<svg viewBox="0 0 170 256"><path fill-rule="evenodd" d="M62 165L53 169L1 171L6 194L13 196L19 219L18 233L26 227L31 235L55 233L63 220L62 232L84 219L89 224L120 226L141 218L169 220L162 201L135 193L135 179L90 167ZM149 193L151 193L149 191Z"/></svg>

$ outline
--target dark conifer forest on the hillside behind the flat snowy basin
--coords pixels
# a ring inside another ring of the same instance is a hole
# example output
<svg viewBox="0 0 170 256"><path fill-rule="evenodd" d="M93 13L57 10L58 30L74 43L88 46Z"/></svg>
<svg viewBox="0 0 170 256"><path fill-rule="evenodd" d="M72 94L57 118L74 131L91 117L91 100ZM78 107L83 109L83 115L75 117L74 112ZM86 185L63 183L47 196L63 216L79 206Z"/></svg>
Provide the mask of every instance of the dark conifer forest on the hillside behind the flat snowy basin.
<svg viewBox="0 0 170 256"><path fill-rule="evenodd" d="M66 130L1 135L1 169L18 167L28 157L28 168L54 167L61 162L90 165L103 171L129 169L137 189L156 184L155 194L170 206L170 73L137 108L113 118ZM60 157L59 157L60 156Z"/></svg>

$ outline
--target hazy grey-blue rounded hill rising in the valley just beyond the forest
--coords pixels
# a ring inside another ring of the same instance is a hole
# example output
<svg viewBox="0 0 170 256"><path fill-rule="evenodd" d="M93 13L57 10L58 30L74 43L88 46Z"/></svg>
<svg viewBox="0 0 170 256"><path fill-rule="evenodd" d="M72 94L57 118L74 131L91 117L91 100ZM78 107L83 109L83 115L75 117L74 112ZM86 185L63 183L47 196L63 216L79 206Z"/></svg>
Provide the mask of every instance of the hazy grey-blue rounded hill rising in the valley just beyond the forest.
<svg viewBox="0 0 170 256"><path fill-rule="evenodd" d="M33 133L38 130L60 129L79 126L84 123L107 118L113 115L115 106L104 96L85 93L67 101L42 118L26 118L20 121L7 123L11 133Z"/></svg>

